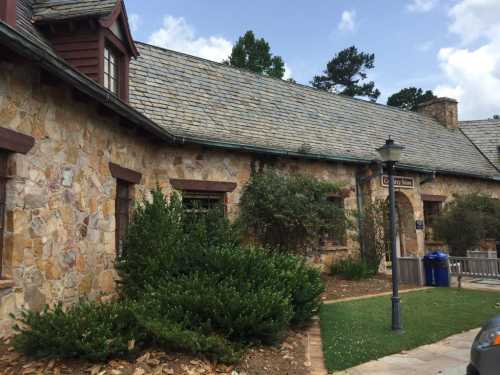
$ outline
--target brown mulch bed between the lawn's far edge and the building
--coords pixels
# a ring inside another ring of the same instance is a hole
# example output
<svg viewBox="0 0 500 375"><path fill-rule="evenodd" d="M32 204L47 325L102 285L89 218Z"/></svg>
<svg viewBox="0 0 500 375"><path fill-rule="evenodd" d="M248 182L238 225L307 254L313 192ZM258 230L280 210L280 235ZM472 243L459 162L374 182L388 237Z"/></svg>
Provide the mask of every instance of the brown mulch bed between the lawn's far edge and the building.
<svg viewBox="0 0 500 375"><path fill-rule="evenodd" d="M326 292L323 294L324 301L337 300L350 297L361 297L392 291L391 277L388 275L377 275L375 277L352 281L341 277L324 275ZM401 284L400 289L416 288L416 285Z"/></svg>

